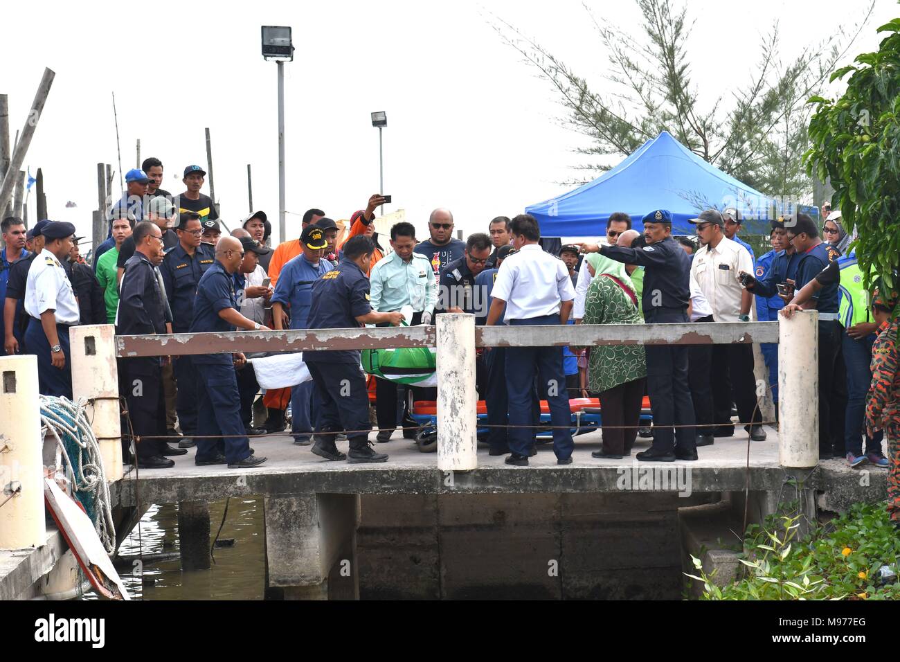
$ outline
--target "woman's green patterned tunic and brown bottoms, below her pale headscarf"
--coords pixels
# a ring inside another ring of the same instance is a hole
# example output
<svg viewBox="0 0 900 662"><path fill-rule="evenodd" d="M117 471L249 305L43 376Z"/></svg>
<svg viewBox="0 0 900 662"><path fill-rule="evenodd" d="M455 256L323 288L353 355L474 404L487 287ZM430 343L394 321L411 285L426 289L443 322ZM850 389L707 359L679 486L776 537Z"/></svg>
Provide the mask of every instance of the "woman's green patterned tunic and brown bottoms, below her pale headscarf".
<svg viewBox="0 0 900 662"><path fill-rule="evenodd" d="M637 296L626 281L599 274L590 282L582 324L643 324ZM647 360L643 345L598 345L590 348L588 388L600 395L603 446L595 458L620 459L631 454L644 400Z"/></svg>

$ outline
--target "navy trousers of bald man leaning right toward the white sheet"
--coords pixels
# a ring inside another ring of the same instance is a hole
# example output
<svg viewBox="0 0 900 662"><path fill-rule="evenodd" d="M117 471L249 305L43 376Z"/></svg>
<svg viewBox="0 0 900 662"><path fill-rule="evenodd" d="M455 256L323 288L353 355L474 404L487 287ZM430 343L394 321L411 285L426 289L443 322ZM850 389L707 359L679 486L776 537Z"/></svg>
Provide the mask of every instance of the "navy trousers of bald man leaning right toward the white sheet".
<svg viewBox="0 0 900 662"><path fill-rule="evenodd" d="M200 383L197 409L196 459L210 459L217 451L229 464L250 457L250 441L240 420L240 395L234 366L193 363ZM181 386L179 385L179 389ZM228 435L225 439L199 439L204 435Z"/></svg>

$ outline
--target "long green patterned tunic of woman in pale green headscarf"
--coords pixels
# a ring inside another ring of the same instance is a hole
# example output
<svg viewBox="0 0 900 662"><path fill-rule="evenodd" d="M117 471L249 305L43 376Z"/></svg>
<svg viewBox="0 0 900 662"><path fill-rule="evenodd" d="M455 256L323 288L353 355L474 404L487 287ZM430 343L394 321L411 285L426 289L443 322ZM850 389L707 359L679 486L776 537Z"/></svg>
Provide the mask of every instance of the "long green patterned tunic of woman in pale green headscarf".
<svg viewBox="0 0 900 662"><path fill-rule="evenodd" d="M608 276L598 276L590 281L581 323L643 324L644 318L631 297L615 280ZM595 345L590 348L590 391L602 394L610 388L645 376L647 359L644 345Z"/></svg>

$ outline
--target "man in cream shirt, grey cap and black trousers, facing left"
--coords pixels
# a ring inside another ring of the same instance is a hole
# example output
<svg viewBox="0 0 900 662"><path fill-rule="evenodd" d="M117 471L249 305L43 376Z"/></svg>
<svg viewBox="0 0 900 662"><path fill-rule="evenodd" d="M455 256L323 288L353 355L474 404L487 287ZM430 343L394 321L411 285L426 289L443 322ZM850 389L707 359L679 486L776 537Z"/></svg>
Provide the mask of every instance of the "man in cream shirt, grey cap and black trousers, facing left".
<svg viewBox="0 0 900 662"><path fill-rule="evenodd" d="M725 236L725 222L722 214L715 209L707 209L690 222L697 226L698 237L704 244L694 256L690 275L707 298L713 321L750 322L753 295L741 285L739 278L742 271L752 273L750 253ZM750 438L754 441L765 440L766 432L760 425L762 417L753 376L752 345L713 345L710 383L713 389L713 422L716 423L713 434L722 437L734 434L731 420L731 404L734 401L738 417L750 433ZM704 443L707 442L705 439Z"/></svg>

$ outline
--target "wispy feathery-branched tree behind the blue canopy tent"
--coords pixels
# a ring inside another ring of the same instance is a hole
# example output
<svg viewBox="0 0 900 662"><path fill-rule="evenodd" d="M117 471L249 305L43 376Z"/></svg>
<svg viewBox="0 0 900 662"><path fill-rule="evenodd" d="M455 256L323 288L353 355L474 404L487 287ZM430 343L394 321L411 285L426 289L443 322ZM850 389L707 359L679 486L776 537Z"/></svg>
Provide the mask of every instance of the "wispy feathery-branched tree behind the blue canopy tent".
<svg viewBox="0 0 900 662"><path fill-rule="evenodd" d="M811 179L799 159L809 144L811 109L805 102L824 86L874 3L858 25L809 44L788 64L779 59L781 37L774 23L746 83L726 83L716 98L702 99L685 47L692 26L687 8L673 9L670 0L636 2L644 19L642 39L599 20L585 5L609 61L609 91L603 94L535 39L500 18L492 22L500 37L554 86L565 111L563 125L590 138L589 147L576 150L589 160L576 166L586 171L582 181L608 169L608 157L625 157L669 131L698 156L766 195L809 198ZM835 18L834 23L849 22ZM745 44L736 30L716 36L710 48L727 54Z"/></svg>

